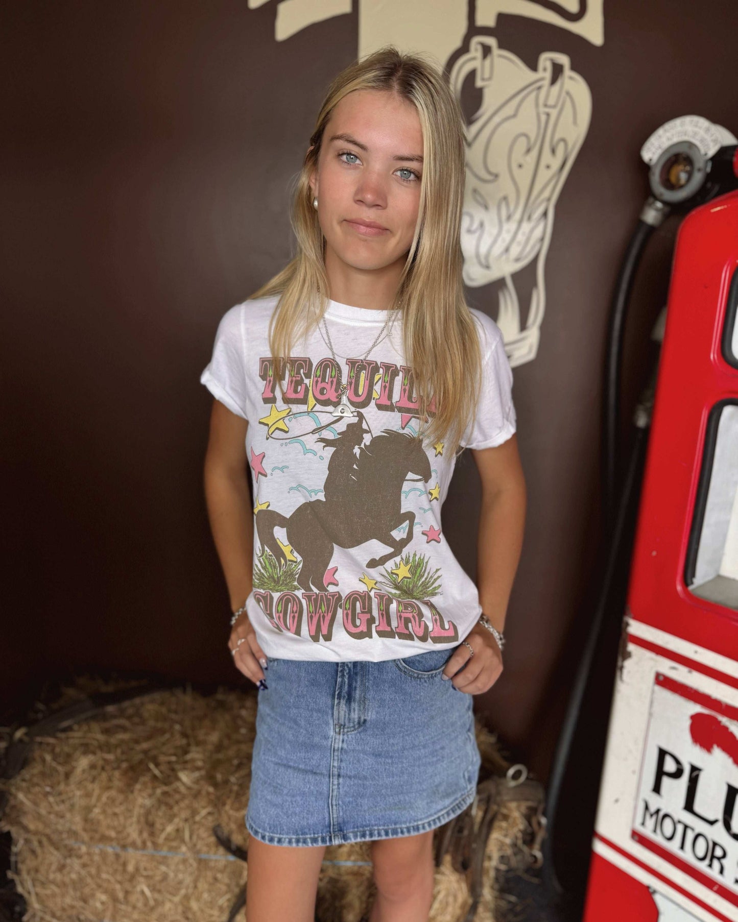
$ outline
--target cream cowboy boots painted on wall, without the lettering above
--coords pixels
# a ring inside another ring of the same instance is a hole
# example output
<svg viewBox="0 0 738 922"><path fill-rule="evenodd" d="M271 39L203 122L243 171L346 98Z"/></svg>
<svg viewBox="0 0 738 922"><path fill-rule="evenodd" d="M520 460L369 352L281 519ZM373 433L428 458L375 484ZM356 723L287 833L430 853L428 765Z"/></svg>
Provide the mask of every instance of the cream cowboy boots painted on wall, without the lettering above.
<svg viewBox="0 0 738 922"><path fill-rule="evenodd" d="M472 76L482 104L467 127L464 281L479 288L504 280L497 325L515 366L538 351L554 207L587 134L591 96L565 54L543 53L533 71L489 35L471 39L451 71L459 100ZM531 262L535 284L523 318L515 276Z"/></svg>

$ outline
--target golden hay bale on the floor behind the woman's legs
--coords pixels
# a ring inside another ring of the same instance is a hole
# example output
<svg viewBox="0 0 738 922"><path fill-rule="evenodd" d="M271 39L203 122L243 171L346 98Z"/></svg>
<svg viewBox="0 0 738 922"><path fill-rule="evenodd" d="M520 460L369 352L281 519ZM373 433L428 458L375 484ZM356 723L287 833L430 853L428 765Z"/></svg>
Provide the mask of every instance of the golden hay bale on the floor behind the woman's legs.
<svg viewBox="0 0 738 922"><path fill-rule="evenodd" d="M57 706L113 686L121 683L102 689L79 677ZM245 851L255 724L256 691L204 695L187 686L149 691L64 732L34 736L23 769L0 782L7 796L0 830L12 836L10 877L27 903L24 922L225 922L247 865L213 830L220 825ZM17 736L23 732L30 730ZM496 737L479 720L477 740L482 776L504 774ZM484 852L478 922L500 917L496 870L520 865L527 828L522 811L501 808ZM369 849L327 847L321 922L367 915L375 892ZM446 854L431 920L463 919L469 905L465 875Z"/></svg>

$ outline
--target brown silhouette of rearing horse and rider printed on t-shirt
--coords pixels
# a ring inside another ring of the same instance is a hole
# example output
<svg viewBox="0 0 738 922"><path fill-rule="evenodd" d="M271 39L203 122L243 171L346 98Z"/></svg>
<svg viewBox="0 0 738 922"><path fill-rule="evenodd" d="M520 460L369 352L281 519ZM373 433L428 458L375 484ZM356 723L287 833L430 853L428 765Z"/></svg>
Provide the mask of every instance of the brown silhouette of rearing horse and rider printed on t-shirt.
<svg viewBox="0 0 738 922"><path fill-rule="evenodd" d="M363 420L358 420L338 438L318 440L336 449L328 463L325 499L306 501L289 516L271 508L256 513L258 539L280 564L287 558L274 529L286 528L292 550L303 561L297 583L304 591L326 590L325 574L336 545L355 548L364 541L381 541L390 550L366 561L366 568L373 569L412 540L415 514L402 511L402 484L411 474L423 483L430 479L431 463L423 442L410 432L385 429L363 445L363 431ZM404 537L395 538L392 532L405 523Z"/></svg>

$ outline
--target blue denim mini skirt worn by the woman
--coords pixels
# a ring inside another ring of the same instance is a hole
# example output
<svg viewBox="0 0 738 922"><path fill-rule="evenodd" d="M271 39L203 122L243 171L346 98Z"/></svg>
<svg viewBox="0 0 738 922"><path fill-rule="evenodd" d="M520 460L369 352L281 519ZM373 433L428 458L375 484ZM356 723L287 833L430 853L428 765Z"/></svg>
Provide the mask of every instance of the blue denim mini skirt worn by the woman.
<svg viewBox="0 0 738 922"><path fill-rule="evenodd" d="M379 662L268 657L245 825L270 845L415 835L473 801L473 696L441 678L455 648Z"/></svg>

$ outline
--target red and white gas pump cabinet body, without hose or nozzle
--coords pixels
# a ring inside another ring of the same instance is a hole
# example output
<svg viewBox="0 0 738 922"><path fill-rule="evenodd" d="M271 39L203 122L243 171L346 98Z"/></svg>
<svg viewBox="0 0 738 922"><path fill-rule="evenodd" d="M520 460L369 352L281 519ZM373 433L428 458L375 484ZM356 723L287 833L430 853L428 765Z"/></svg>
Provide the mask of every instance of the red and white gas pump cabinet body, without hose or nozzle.
<svg viewBox="0 0 738 922"><path fill-rule="evenodd" d="M584 922L738 919L737 314L731 192L677 235Z"/></svg>

